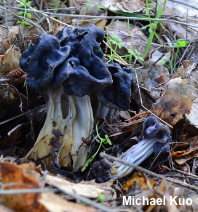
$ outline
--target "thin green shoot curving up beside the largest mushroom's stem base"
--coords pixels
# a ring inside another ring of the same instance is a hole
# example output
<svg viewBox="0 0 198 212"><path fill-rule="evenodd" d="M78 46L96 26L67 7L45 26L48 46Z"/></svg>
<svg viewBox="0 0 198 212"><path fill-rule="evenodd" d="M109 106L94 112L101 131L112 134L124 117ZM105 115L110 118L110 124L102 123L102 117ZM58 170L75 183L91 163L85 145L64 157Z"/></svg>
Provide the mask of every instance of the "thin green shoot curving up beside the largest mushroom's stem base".
<svg viewBox="0 0 198 212"><path fill-rule="evenodd" d="M102 144L109 144L109 145L112 145L111 140L109 139L109 136L108 136L108 135L105 135L105 138L101 138L101 137L100 137L100 135L99 135L99 133L98 133L98 123L96 124L96 133L97 133L98 138L100 139L100 145L99 145L97 151L95 152L95 154L92 155L92 156L87 160L87 162L84 164L84 166L83 166L82 169L81 169L81 172L84 172L85 169L87 168L87 166L89 165L89 163L96 157L96 155L98 154L98 152L99 152L99 150L100 150Z"/></svg>

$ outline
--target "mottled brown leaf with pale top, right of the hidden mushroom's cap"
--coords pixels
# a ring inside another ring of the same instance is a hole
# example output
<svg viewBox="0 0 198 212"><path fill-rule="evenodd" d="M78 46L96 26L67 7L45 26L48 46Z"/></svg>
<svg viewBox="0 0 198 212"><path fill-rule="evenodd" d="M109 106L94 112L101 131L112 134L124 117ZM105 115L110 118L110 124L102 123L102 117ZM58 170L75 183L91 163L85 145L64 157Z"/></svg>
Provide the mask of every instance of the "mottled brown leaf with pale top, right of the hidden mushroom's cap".
<svg viewBox="0 0 198 212"><path fill-rule="evenodd" d="M190 78L180 77L167 83L165 94L154 104L154 113L174 126L183 119L184 114L189 114L194 100L197 98Z"/></svg>

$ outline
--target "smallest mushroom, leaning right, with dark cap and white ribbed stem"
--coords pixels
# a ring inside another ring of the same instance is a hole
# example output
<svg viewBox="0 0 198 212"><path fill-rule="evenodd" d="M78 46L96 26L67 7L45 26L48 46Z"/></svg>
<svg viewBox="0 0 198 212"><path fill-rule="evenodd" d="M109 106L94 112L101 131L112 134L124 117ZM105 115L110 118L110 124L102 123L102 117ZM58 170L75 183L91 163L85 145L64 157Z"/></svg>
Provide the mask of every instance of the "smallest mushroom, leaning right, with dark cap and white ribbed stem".
<svg viewBox="0 0 198 212"><path fill-rule="evenodd" d="M139 165L153 152L155 155L158 155L158 153L167 154L169 142L172 142L172 137L168 126L162 124L154 116L149 116L143 123L139 143L121 154L119 158L128 163ZM132 171L132 167L120 164L119 162L114 162L111 168L111 174L114 177L124 177Z"/></svg>

